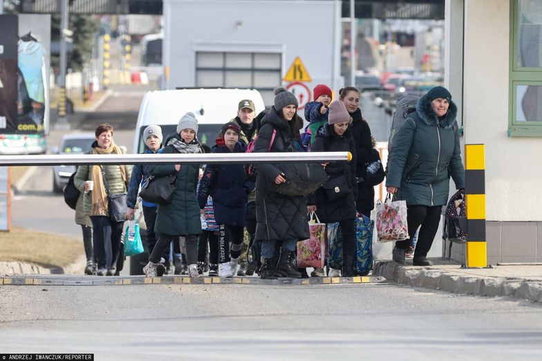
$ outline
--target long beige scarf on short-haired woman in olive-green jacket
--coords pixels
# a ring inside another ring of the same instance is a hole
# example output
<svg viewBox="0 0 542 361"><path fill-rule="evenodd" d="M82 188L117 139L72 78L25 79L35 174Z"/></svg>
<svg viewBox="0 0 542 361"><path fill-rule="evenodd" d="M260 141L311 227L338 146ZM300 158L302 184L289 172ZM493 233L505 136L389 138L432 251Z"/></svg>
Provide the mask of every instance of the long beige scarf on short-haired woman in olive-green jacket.
<svg viewBox="0 0 542 361"><path fill-rule="evenodd" d="M108 148L100 148L98 146L92 148L92 154L122 154L122 150L113 142ZM126 167L119 166L122 180L126 182ZM91 215L106 215L109 209L109 201L107 199L107 191L102 176L102 166L94 165L91 171L91 181L94 182L94 189L91 192L92 209Z"/></svg>

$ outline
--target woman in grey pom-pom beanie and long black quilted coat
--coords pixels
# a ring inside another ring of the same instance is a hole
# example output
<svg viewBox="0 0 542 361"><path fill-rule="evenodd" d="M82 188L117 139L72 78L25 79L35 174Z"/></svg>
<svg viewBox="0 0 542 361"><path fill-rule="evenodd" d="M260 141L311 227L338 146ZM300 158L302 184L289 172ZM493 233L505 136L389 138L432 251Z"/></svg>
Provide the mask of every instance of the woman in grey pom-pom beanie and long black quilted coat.
<svg viewBox="0 0 542 361"><path fill-rule="evenodd" d="M297 99L291 92L279 92L274 106L263 117L261 129L254 144L254 153L296 152L302 150L299 129L302 121L296 115ZM298 240L309 237L307 206L304 196L288 197L273 190L272 184L286 182L285 175L277 164L256 166L256 235L262 242L263 266L261 277L301 277L289 262L295 257ZM281 242L282 249L277 264L275 245Z"/></svg>

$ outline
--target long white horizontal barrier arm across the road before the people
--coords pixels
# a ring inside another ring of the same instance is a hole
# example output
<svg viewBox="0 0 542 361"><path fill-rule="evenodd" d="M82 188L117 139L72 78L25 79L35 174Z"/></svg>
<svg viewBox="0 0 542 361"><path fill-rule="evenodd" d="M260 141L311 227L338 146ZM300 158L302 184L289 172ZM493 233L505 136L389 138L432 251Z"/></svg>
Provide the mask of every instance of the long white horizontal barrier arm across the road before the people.
<svg viewBox="0 0 542 361"><path fill-rule="evenodd" d="M349 152L230 154L0 155L0 166L80 166L86 164L319 163L350 161Z"/></svg>

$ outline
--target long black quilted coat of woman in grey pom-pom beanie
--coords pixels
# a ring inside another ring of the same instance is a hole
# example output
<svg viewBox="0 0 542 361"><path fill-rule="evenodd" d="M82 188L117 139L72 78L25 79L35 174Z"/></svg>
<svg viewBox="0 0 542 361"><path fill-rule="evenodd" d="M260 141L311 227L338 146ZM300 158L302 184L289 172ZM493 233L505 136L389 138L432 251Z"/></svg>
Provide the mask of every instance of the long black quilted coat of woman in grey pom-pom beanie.
<svg viewBox="0 0 542 361"><path fill-rule="evenodd" d="M295 120L295 119L294 119ZM263 117L254 144L254 153L266 153L273 130L277 130L271 152L295 152L301 144L299 130L290 130L288 122L279 117L274 106ZM295 128L295 127L292 127ZM309 237L305 197L287 197L271 190L281 173L275 164L256 166L256 240L306 240Z"/></svg>

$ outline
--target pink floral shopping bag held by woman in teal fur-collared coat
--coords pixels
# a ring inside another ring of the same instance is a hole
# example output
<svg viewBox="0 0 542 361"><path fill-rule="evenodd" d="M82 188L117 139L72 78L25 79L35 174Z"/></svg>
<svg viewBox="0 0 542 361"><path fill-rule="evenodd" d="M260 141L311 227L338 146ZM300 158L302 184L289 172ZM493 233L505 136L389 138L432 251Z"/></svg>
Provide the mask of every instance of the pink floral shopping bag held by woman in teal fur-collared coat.
<svg viewBox="0 0 542 361"><path fill-rule="evenodd" d="M384 203L377 201L375 209L378 242L403 241L409 238L406 201L392 202L388 193Z"/></svg>

